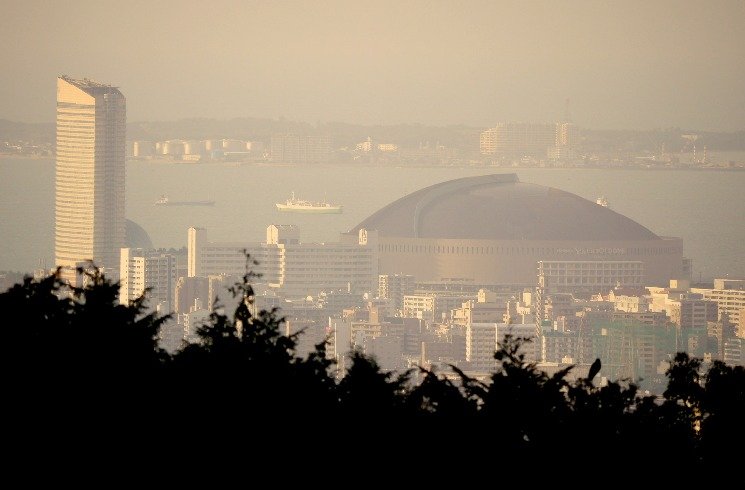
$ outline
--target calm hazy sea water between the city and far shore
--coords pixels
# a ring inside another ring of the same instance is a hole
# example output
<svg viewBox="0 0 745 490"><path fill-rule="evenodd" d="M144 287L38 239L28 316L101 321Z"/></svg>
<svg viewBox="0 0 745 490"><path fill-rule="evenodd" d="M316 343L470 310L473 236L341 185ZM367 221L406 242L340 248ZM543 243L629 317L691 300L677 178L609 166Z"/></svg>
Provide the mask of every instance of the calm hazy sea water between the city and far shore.
<svg viewBox="0 0 745 490"><path fill-rule="evenodd" d="M295 224L306 242L335 242L339 233L404 195L458 177L516 173L612 209L658 235L683 239L694 278L745 278L745 171L269 166L127 162L127 217L156 247L180 248L190 226L214 241L263 241L270 224ZM291 192L344 205L338 215L280 213ZM214 206L155 206L212 199ZM0 159L0 270L53 265L54 160Z"/></svg>

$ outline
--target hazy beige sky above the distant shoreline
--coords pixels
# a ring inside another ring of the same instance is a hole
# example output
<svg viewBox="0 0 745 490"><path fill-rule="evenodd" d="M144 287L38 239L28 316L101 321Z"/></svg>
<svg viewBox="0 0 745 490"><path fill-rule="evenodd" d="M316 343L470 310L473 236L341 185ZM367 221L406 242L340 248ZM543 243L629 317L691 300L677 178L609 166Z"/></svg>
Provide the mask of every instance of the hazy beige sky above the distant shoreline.
<svg viewBox="0 0 745 490"><path fill-rule="evenodd" d="M66 74L129 121L745 129L743 0L0 1L2 119Z"/></svg>

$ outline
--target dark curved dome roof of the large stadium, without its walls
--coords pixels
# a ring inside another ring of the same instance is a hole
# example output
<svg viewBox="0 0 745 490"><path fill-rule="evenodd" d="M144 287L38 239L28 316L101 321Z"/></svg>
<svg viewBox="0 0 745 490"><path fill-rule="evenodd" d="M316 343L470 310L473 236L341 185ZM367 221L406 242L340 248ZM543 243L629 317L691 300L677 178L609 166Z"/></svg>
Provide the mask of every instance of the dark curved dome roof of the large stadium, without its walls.
<svg viewBox="0 0 745 490"><path fill-rule="evenodd" d="M516 174L465 177L392 202L356 227L382 237L472 240L655 240L622 214L570 192L520 182Z"/></svg>

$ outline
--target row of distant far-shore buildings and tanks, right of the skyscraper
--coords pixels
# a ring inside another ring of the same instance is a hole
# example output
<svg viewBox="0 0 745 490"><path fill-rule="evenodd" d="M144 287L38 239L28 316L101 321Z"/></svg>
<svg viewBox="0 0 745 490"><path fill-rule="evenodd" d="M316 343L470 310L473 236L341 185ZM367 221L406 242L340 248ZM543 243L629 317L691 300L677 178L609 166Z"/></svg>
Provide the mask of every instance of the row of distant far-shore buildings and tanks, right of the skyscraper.
<svg viewBox="0 0 745 490"><path fill-rule="evenodd" d="M341 143L339 135L332 132L275 132L265 140L134 140L128 144L128 155L138 160L180 163L745 169L745 151L735 159L731 154L720 156L706 146L699 144L697 148L692 143L696 135L690 134L680 136L677 150L665 143L646 149L640 145L639 150L633 150L635 143L588 141L586 132L571 122L502 122L466 133L467 137L459 138L460 143L427 139L416 145L371 136Z"/></svg>

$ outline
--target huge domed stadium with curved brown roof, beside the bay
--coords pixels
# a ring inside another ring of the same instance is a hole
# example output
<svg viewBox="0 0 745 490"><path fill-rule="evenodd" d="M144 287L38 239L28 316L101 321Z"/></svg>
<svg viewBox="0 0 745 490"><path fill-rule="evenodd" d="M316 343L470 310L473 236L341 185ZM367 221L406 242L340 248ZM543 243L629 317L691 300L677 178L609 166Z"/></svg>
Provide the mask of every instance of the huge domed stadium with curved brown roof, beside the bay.
<svg viewBox="0 0 745 490"><path fill-rule="evenodd" d="M586 269L557 280L589 289L666 285L683 269L680 238L658 236L605 206L515 174L435 184L349 233L377 241L380 274L424 282L533 286L540 268L551 266Z"/></svg>

